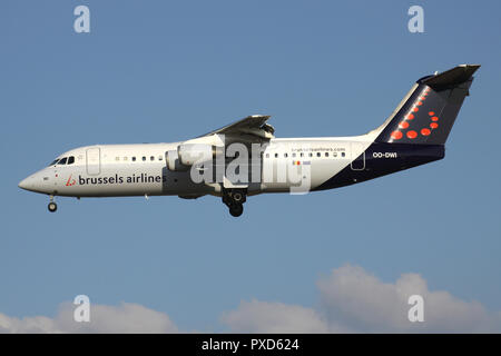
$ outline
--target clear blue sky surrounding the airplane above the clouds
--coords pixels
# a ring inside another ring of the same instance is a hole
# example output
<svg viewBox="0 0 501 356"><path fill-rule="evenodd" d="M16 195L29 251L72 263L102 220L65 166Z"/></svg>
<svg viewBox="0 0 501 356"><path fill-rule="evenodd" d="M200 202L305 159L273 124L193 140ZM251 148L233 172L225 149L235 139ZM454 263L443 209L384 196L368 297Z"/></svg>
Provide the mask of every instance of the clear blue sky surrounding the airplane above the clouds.
<svg viewBox="0 0 501 356"><path fill-rule="evenodd" d="M73 9L90 9L90 33ZM407 9L424 9L424 33ZM0 314L55 316L86 294L228 330L242 300L316 308L346 264L419 274L501 310L497 1L2 1ZM480 63L444 160L307 196L58 199L19 180L91 144L168 142L247 115L277 137L383 122L413 81Z"/></svg>

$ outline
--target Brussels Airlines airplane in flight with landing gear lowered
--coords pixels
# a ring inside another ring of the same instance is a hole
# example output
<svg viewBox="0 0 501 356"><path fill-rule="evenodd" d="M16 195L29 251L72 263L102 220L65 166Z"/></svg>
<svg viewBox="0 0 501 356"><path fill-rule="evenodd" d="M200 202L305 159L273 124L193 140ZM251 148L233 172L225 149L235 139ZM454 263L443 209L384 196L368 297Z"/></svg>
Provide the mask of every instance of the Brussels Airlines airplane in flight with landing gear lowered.
<svg viewBox="0 0 501 356"><path fill-rule="evenodd" d="M19 187L48 195L51 212L55 197L212 195L238 217L250 196L340 188L443 159L479 68L461 65L419 79L365 135L275 138L269 116L254 115L179 142L79 147Z"/></svg>

